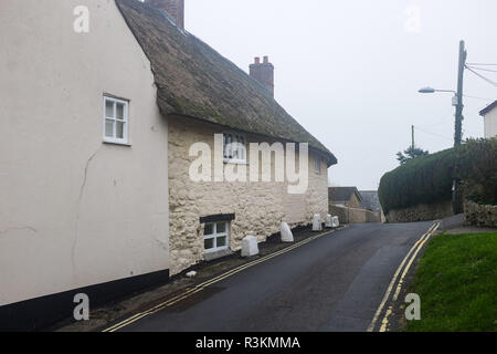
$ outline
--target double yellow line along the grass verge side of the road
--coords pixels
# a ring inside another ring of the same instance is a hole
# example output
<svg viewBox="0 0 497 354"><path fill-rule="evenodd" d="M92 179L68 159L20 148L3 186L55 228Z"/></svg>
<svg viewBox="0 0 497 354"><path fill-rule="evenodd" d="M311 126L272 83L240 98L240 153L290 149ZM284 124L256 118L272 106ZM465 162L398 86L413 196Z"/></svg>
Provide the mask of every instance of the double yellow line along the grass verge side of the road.
<svg viewBox="0 0 497 354"><path fill-rule="evenodd" d="M435 222L433 223L430 229L423 233L423 236L416 241L416 243L414 243L414 246L409 250L408 254L404 257L404 259L402 260L401 264L399 266L399 268L396 269L395 273L393 274L393 278L389 284L389 288L387 289L384 295L383 295L383 300L380 303L380 306L378 308L377 312L374 313L374 317L372 319L370 325L368 326L368 332L372 332L374 331L374 327L377 325L378 319L381 315L381 312L383 311L383 308L387 303L387 301L390 298L390 294L393 291L393 288L396 283L396 279L399 278L400 272L402 271L402 268L404 267L405 263L408 263L408 266L405 267L404 271L402 272L402 275L399 280L399 283L396 285L395 289L395 293L393 295L393 301L396 301L399 298L399 293L402 289L402 284L404 281L405 275L408 274L413 261L416 259L417 253L420 252L420 250L423 248L424 243L426 243L426 241L433 236L433 233L435 233L435 231L438 229L440 227L440 222ZM412 254L412 257L411 257ZM408 262L409 261L409 262ZM380 332L385 332L387 331L387 325L388 325L388 317L389 315L392 313L392 309L388 309L385 311L385 314L383 316L383 320L381 321L381 327L380 327Z"/></svg>

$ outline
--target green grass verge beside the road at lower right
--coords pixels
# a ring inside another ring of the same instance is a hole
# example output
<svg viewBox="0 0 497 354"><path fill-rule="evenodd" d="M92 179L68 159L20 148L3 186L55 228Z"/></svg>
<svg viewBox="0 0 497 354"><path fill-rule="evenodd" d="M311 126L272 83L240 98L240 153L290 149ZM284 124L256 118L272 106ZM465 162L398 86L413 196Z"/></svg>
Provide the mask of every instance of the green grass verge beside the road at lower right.
<svg viewBox="0 0 497 354"><path fill-rule="evenodd" d="M410 292L421 298L421 321L409 332L497 331L497 233L433 238Z"/></svg>

